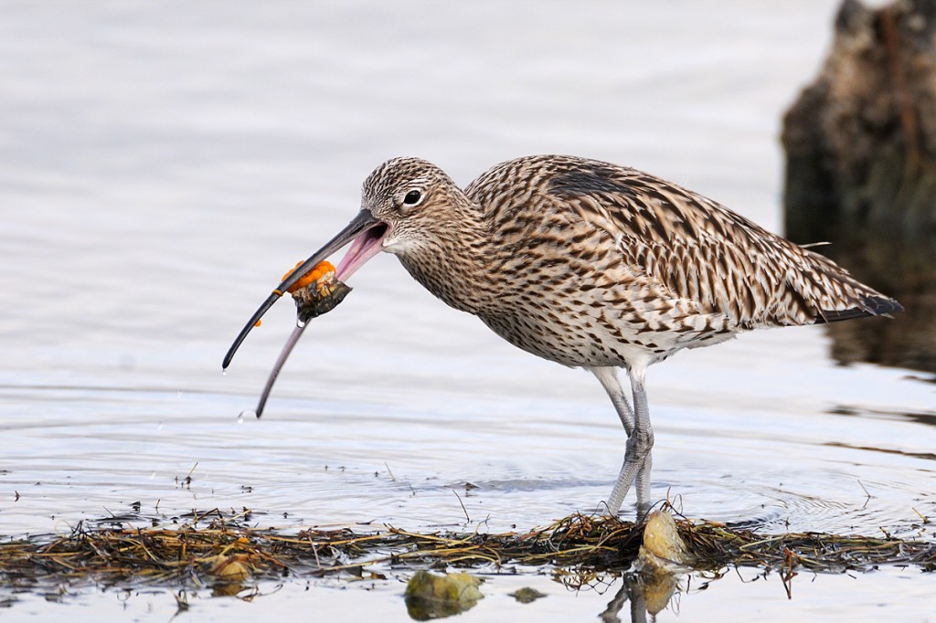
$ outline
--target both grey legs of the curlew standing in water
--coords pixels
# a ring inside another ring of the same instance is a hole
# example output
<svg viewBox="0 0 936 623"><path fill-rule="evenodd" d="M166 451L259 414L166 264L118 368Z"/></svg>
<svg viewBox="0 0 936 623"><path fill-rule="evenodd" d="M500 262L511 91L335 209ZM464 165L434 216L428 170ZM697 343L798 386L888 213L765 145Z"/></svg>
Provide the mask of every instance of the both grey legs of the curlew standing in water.
<svg viewBox="0 0 936 623"><path fill-rule="evenodd" d="M605 386L611 402L621 416L624 428L627 430L627 450L624 454L624 463L618 480L611 489L607 499L608 514L618 514L627 491L636 480L637 493L637 520L642 520L650 511L650 474L652 466L651 448L653 447L653 428L650 423L650 409L647 403L647 392L644 389L646 369L631 368L629 376L631 389L634 393L634 411L623 395L621 384L618 383L614 369L597 368L592 372L602 385ZM620 405L620 406L619 406Z"/></svg>

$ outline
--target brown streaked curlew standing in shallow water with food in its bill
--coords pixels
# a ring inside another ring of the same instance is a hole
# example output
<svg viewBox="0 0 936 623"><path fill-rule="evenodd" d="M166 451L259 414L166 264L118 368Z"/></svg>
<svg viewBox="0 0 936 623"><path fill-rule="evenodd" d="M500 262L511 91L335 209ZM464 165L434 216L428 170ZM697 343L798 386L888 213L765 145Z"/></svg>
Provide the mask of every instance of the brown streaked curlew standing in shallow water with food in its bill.
<svg viewBox="0 0 936 623"><path fill-rule="evenodd" d="M462 190L439 167L394 158L364 181L358 215L273 291L247 332L300 276L347 243L341 281L373 255L511 344L588 369L627 433L607 512L636 485L650 508L647 369L744 331L899 312L826 257L720 204L633 168L572 156L492 167ZM630 380L633 406L618 380Z"/></svg>

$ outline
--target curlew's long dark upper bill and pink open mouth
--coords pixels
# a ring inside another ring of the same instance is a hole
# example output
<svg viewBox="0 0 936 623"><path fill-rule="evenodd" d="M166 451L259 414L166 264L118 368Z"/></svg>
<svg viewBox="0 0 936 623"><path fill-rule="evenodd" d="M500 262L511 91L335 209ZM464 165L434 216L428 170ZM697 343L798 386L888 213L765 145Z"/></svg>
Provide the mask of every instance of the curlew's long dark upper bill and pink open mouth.
<svg viewBox="0 0 936 623"><path fill-rule="evenodd" d="M337 270L335 270L335 278L338 281L344 281L344 279L350 277L355 270L363 266L367 260L380 252L380 243L387 235L388 231L389 225L375 219L371 210L360 210L358 216L356 216L351 223L347 224L337 236L330 239L324 247L312 254L299 268L289 273L285 280L283 280L283 283L276 286L276 289L267 297L267 300L263 301L263 304L254 312L254 315L247 321L247 324L243 326L241 333L227 350L222 368L227 369L227 366L230 365L231 359L234 358L234 354L241 346L241 342L247 337L250 330L256 326L256 322L262 318L263 314L273 306L273 303L282 297L283 293L298 282L303 275L315 268L319 262L327 259L331 254L334 254L344 247L348 242L354 240L351 249L348 250L341 264L339 264Z"/></svg>

